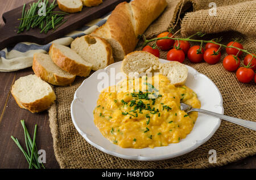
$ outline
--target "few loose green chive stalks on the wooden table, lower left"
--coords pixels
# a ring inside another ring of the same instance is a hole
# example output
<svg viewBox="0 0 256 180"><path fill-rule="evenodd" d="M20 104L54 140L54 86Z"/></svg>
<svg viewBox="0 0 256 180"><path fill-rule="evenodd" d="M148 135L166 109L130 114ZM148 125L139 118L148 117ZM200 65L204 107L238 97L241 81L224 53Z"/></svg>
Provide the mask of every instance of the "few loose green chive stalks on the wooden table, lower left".
<svg viewBox="0 0 256 180"><path fill-rule="evenodd" d="M23 155L25 156L28 164L29 164L29 169L31 168L36 168L36 169L45 169L43 163L39 163L38 162L38 149L36 148L36 143L35 143L35 139L36 139L36 130L38 125L35 125L35 130L34 130L34 137L33 140L30 138L30 134L27 131L27 127L25 125L24 120L20 121L22 123L22 127L24 130L24 137L25 137L25 143L26 143L26 148L27 148L27 152L24 151L24 149L22 148L22 146L20 145L19 141L17 138L14 138L14 136L11 136L11 139L14 140L14 142L16 143L16 145L18 145L20 151L22 151Z"/></svg>

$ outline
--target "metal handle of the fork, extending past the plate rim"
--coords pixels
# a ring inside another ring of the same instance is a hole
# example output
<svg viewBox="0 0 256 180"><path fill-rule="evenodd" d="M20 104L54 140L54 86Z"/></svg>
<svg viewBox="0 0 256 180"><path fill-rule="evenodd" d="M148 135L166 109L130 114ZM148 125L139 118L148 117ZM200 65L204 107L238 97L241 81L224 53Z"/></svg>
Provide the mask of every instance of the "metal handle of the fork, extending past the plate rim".
<svg viewBox="0 0 256 180"><path fill-rule="evenodd" d="M251 130L256 131L256 122L253 122L253 121L246 121L243 119L233 118L228 115L213 113L213 112L209 112L208 110L204 110L204 109L194 109L193 108L190 110L190 112L199 112L199 113L203 113L203 114L207 114L207 115L212 115L213 117L220 118L220 119L223 119L223 120L226 120L229 122L233 122L237 125L247 127L247 128L250 128Z"/></svg>

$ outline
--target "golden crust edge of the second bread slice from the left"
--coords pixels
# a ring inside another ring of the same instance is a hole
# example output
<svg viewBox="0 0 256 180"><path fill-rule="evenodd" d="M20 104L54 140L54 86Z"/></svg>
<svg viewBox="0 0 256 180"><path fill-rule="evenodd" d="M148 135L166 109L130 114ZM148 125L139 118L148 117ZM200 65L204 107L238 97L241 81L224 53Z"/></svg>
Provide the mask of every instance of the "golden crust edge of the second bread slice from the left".
<svg viewBox="0 0 256 180"><path fill-rule="evenodd" d="M38 61L36 61L36 54L34 55L32 70L34 71L36 76L53 85L71 85L76 79L76 76L74 76L73 78L65 78L58 76L53 72L47 71L46 68L44 68Z"/></svg>

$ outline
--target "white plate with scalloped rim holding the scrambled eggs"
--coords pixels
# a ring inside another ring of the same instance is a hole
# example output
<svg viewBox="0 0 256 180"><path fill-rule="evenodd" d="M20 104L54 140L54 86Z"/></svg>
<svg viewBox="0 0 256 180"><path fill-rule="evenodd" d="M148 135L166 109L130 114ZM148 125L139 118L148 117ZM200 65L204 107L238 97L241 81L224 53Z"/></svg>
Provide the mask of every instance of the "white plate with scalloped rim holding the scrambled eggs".
<svg viewBox="0 0 256 180"><path fill-rule="evenodd" d="M160 59L160 62L166 63L168 61ZM109 140L106 139L94 125L93 121L93 110L96 108L97 99L100 95L97 87L98 83L102 82L102 79L97 77L101 72L107 72L110 75L110 68L112 68L112 71L114 68L115 74L121 72L121 63L122 62L117 62L106 67L104 70L94 72L93 75L84 80L82 85L77 89L74 100L71 104L71 117L73 124L85 140L94 147L108 153L109 155L129 160L165 160L193 151L200 145L207 142L207 140L212 137L214 132L220 126L220 119L199 113L199 117L197 118L191 133L188 134L185 139L181 139L180 142L176 144L169 144L166 147L155 147L154 149L133 149L121 148L118 145L109 142ZM188 80L185 85L197 93L197 96L201 101L201 108L224 114L221 93L212 80L207 76L200 74L190 66L187 66L187 68ZM117 81L119 82L119 80Z"/></svg>

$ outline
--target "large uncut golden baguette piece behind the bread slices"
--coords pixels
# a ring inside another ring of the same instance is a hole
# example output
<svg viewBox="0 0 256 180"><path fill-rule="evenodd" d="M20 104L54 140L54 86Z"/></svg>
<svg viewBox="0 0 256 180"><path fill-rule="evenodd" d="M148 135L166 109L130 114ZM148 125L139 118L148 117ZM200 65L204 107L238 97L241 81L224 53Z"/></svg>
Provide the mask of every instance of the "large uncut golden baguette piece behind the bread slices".
<svg viewBox="0 0 256 180"><path fill-rule="evenodd" d="M115 7L107 22L91 35L105 38L112 45L115 61L122 61L135 49L138 35L146 31L166 6L166 0L122 2Z"/></svg>

